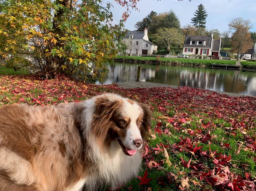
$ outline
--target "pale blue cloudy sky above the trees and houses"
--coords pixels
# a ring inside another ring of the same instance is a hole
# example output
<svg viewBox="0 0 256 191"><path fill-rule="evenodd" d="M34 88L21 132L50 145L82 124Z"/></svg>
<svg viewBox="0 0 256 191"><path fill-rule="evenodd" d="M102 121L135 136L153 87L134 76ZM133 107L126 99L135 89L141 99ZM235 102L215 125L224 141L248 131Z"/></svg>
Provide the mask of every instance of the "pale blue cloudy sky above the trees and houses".
<svg viewBox="0 0 256 191"><path fill-rule="evenodd" d="M118 21L124 9L117 5L114 0L109 0L114 5L112 9L114 19ZM220 32L228 30L229 22L236 17L250 19L253 24L251 31L256 31L256 0L140 0L138 8L140 11L132 11L126 21L125 27L134 30L134 24L142 20L148 13L157 13L173 10L180 19L181 26L190 24L191 18L197 6L202 3L208 12L207 29L218 29Z"/></svg>

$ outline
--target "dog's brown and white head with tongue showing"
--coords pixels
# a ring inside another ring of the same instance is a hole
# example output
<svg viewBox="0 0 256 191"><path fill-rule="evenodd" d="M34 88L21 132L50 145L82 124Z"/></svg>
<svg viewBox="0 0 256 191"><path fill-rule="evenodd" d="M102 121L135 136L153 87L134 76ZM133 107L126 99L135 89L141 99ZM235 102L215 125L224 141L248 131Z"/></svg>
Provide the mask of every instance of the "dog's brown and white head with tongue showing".
<svg viewBox="0 0 256 191"><path fill-rule="evenodd" d="M101 147L117 141L124 153L135 155L150 131L151 111L141 103L115 94L95 98L93 131Z"/></svg>

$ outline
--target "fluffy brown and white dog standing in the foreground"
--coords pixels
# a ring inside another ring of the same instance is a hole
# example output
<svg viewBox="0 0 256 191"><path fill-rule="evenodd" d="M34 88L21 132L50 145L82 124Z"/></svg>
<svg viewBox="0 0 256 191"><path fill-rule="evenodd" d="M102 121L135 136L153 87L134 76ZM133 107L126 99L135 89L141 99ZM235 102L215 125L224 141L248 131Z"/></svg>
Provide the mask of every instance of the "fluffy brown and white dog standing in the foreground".
<svg viewBox="0 0 256 191"><path fill-rule="evenodd" d="M140 170L150 108L116 94L0 107L0 191L95 191Z"/></svg>

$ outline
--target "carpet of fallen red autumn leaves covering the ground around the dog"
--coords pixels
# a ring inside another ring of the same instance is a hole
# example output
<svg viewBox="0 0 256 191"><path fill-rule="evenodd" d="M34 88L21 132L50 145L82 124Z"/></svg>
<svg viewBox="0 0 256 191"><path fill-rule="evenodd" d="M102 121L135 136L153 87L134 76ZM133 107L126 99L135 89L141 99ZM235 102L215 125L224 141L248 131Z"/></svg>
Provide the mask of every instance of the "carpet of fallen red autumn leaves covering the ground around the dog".
<svg viewBox="0 0 256 191"><path fill-rule="evenodd" d="M144 102L154 111L152 132L143 153L143 176L137 177L140 189L152 190L150 173L161 171L163 173L156 181L162 190L168 185L175 185L177 190L256 190L256 176L248 171L248 164L236 166L231 155L211 150L211 147L205 150L202 146L214 142L217 135L212 131L215 128L223 128L230 136L239 135L241 138L235 154L246 151L250 153L247 156L256 162L255 98L234 98L189 87L123 89L116 85L86 84L64 76L52 80L35 79L33 76L0 76L0 105L29 103L45 106L78 102L104 92ZM199 119L196 127L190 127L195 121L191 116ZM230 126L216 124L213 122L215 119L226 121ZM164 142L155 141L157 137L171 136L174 132L180 132L175 143L166 139ZM227 142L221 143L221 146L231 149ZM179 162L172 164L169 159L179 153L185 153L187 159L179 157ZM182 166L186 170L172 172L168 166L177 169ZM232 172L230 168L234 166L243 168L243 173ZM132 183L127 187L128 190L134 189Z"/></svg>

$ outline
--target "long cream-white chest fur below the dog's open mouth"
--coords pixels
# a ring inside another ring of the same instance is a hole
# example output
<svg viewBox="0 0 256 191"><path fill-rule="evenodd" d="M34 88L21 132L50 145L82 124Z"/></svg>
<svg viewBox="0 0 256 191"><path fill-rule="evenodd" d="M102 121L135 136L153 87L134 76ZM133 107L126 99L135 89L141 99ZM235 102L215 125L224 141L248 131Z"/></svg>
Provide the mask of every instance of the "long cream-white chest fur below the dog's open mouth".
<svg viewBox="0 0 256 191"><path fill-rule="evenodd" d="M95 190L98 185L120 186L136 176L140 170L141 152L129 157L116 141L111 143L110 155L98 158L98 173L86 177L86 190Z"/></svg>

